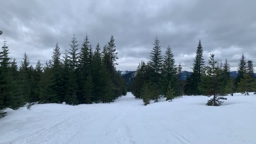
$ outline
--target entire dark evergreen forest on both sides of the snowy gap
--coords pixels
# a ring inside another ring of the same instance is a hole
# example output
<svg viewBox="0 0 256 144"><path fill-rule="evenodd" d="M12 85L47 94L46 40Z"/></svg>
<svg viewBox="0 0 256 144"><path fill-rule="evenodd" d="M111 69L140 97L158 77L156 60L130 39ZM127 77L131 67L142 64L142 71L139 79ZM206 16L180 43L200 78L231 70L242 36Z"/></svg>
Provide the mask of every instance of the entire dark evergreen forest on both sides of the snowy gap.
<svg viewBox="0 0 256 144"><path fill-rule="evenodd" d="M38 60L36 66L32 66L24 52L18 66L16 59L10 58L8 43L4 40L0 52L0 114L3 116L6 108L17 110L34 104L109 103L126 95L125 81L116 70L118 53L114 41L111 36L103 48L99 43L93 48L87 33L81 45L73 34L70 48L65 50L62 58L56 43L50 60L43 63ZM203 52L199 40L192 74L187 75L184 82L181 80L182 66L176 65L172 48L167 46L163 56L156 36L150 60L141 61L136 70L130 88L132 94L142 99L144 105L150 104L150 100L158 102L161 97L172 101L182 95L204 95L213 96L206 105L220 106L227 94L241 92L248 95L256 90L253 62L246 62L244 54L238 64L238 76L233 79L228 59L217 62L215 55L210 54L206 66Z"/></svg>

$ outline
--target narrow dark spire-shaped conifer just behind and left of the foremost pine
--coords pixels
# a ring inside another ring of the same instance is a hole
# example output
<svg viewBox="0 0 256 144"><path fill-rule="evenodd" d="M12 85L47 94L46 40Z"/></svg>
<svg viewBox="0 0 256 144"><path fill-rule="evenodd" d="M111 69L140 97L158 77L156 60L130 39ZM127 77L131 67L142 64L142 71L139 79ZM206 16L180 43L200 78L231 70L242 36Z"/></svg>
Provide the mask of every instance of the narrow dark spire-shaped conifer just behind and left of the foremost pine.
<svg viewBox="0 0 256 144"><path fill-rule="evenodd" d="M199 40L191 74L192 94L194 95L201 94L201 92L198 90L198 84L200 83L201 76L204 74L203 52L201 40Z"/></svg>

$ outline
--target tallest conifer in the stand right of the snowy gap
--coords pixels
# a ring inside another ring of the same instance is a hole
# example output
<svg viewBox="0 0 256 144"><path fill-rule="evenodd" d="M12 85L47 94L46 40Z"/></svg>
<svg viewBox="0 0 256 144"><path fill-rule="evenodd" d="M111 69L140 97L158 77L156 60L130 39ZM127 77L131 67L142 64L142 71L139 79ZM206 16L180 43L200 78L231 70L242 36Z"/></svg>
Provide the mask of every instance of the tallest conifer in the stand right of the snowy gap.
<svg viewBox="0 0 256 144"><path fill-rule="evenodd" d="M151 62L151 66L152 66L152 82L156 83L157 85L160 82L160 71L162 69L162 62L163 62L163 57L161 55L161 46L159 45L160 40L158 39L158 37L156 36L155 40L154 40L154 48L151 50L150 53L150 62Z"/></svg>

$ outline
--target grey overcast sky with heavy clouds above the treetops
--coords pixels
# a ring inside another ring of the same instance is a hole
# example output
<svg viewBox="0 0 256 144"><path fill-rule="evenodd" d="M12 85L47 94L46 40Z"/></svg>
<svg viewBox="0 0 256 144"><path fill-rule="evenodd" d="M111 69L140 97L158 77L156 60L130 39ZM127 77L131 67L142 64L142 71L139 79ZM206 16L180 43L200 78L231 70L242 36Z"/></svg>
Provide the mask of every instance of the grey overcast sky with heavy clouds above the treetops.
<svg viewBox="0 0 256 144"><path fill-rule="evenodd" d="M34 65L51 58L56 42L62 53L68 49L73 33L82 44L87 32L94 48L113 35L117 69L136 70L149 60L157 35L162 53L170 44L188 71L201 39L206 63L214 53L236 70L242 53L256 66L255 6L255 0L4 0L0 39L6 37L19 63L26 51Z"/></svg>

